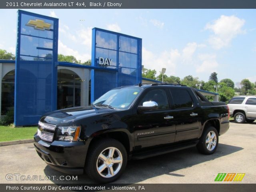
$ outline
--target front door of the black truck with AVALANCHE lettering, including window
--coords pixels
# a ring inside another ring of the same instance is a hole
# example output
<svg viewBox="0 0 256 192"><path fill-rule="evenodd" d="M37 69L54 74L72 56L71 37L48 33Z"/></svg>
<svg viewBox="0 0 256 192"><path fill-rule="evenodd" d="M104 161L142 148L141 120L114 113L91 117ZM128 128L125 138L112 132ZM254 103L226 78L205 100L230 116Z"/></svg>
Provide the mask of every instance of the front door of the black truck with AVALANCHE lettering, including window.
<svg viewBox="0 0 256 192"><path fill-rule="evenodd" d="M135 150L172 143L175 138L174 114L170 110L166 91L161 88L147 91L141 96L138 106L146 101L156 102L158 108L137 112L133 121Z"/></svg>

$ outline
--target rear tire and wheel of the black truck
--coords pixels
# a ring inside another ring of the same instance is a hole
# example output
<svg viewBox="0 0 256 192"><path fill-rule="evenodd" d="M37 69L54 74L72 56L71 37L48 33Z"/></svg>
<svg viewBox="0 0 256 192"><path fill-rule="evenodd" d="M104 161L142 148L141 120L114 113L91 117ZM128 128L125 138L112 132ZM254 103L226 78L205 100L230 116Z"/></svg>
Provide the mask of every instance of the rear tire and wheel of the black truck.
<svg viewBox="0 0 256 192"><path fill-rule="evenodd" d="M204 130L197 144L197 149L202 154L210 155L216 151L218 142L219 137L216 128L209 126Z"/></svg>

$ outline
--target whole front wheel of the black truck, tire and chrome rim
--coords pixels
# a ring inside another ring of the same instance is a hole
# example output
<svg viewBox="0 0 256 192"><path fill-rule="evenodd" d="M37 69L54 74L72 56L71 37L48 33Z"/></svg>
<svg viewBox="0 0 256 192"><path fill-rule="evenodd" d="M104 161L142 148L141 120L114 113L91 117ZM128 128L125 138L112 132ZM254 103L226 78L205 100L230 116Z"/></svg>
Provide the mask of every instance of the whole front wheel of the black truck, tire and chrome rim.
<svg viewBox="0 0 256 192"><path fill-rule="evenodd" d="M86 158L85 171L100 183L110 183L118 179L127 164L127 152L122 143L106 138L90 147Z"/></svg>

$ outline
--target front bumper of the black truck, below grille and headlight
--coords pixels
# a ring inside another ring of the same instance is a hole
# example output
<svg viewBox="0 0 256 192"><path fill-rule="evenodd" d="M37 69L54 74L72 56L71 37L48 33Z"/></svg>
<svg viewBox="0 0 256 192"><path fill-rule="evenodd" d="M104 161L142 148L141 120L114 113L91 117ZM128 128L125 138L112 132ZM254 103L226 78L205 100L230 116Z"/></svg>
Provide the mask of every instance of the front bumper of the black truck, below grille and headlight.
<svg viewBox="0 0 256 192"><path fill-rule="evenodd" d="M83 174L88 146L86 142L41 140L38 134L34 135L34 146L38 155L50 167L66 174Z"/></svg>

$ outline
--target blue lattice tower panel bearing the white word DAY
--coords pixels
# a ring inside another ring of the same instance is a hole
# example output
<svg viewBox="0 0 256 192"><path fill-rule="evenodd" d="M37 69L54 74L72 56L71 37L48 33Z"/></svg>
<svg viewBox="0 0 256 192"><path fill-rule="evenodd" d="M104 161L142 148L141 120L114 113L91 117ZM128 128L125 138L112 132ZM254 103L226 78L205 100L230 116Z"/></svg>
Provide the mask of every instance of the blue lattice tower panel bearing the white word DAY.
<svg viewBox="0 0 256 192"><path fill-rule="evenodd" d="M140 83L141 54L142 39L94 28L92 66L100 70L92 70L91 102L112 88Z"/></svg>

